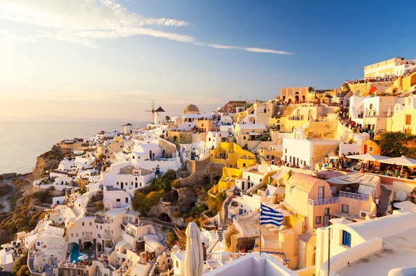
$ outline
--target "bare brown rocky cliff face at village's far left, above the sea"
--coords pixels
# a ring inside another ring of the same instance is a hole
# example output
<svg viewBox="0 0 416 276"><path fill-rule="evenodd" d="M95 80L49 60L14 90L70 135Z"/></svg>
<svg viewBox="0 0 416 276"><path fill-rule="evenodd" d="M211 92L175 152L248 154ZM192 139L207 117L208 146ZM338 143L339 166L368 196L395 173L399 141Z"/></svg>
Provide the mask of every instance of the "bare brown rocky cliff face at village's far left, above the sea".
<svg viewBox="0 0 416 276"><path fill-rule="evenodd" d="M57 169L60 161L69 154L71 154L71 149L62 149L61 147L53 146L50 151L46 151L37 157L36 167L29 174L28 178L33 182L47 176L46 171Z"/></svg>

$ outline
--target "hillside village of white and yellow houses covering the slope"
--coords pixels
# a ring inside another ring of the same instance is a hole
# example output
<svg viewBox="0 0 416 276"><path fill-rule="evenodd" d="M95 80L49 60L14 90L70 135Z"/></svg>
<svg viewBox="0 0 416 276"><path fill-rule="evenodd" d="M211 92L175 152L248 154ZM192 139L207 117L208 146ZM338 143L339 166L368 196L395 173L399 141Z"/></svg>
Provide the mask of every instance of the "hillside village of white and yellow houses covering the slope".
<svg viewBox="0 0 416 276"><path fill-rule="evenodd" d="M339 89L281 88L214 112L153 106L145 129L62 140L27 178L4 177L17 191L1 194L0 266L185 275L195 223L207 276L414 275L415 64L388 59ZM261 205L280 226L260 224Z"/></svg>

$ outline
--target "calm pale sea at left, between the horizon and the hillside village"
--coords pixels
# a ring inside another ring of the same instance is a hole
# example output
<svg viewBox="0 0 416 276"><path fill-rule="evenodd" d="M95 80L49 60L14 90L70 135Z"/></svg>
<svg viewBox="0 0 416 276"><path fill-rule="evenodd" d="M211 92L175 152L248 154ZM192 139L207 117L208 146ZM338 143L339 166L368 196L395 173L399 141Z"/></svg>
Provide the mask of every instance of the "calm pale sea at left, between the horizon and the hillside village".
<svg viewBox="0 0 416 276"><path fill-rule="evenodd" d="M147 122L129 121L133 127ZM122 131L127 122L71 121L28 122L0 121L0 174L32 172L36 158L64 139L89 138L100 131Z"/></svg>

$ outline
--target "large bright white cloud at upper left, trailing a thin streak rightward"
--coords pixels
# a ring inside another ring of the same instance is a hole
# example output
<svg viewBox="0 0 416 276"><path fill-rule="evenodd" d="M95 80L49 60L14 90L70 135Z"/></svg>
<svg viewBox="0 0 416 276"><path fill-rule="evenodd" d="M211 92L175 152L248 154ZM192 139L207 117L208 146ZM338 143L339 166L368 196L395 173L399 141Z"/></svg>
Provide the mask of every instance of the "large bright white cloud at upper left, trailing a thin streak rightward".
<svg viewBox="0 0 416 276"><path fill-rule="evenodd" d="M218 49L291 54L283 50L198 42L198 39L191 35L162 30L186 27L189 25L187 21L164 17L145 18L129 12L116 0L3 0L0 1L0 18L35 26L39 37L88 47L97 47L98 42L105 39L148 35Z"/></svg>

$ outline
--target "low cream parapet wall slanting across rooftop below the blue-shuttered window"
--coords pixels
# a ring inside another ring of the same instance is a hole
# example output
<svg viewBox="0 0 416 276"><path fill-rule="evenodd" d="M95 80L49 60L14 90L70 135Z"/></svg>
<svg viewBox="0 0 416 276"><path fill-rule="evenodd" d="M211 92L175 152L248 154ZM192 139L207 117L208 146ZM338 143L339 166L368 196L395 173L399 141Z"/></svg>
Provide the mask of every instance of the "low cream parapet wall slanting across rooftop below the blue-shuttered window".
<svg viewBox="0 0 416 276"><path fill-rule="evenodd" d="M338 270L341 270L351 264L354 261L372 255L375 252L383 248L383 239L374 237L365 243L358 244L349 248L348 250L341 252L338 255L331 257L331 272L336 273ZM324 261L320 267L320 276L327 275L328 261ZM332 273L331 273L332 274Z"/></svg>

